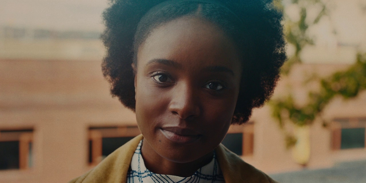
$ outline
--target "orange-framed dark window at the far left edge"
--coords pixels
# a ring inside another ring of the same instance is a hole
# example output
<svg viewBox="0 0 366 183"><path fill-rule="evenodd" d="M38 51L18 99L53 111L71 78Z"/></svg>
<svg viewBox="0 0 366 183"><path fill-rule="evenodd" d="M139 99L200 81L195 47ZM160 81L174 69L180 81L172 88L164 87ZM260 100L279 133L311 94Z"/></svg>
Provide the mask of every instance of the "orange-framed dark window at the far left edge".
<svg viewBox="0 0 366 183"><path fill-rule="evenodd" d="M0 130L0 170L32 167L33 129Z"/></svg>

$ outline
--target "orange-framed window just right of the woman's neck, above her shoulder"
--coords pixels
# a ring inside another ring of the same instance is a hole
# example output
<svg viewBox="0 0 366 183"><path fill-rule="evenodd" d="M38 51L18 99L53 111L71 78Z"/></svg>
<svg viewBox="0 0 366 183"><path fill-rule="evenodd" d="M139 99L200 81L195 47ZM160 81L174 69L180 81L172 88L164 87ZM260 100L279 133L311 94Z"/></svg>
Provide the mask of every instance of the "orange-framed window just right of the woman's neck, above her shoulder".
<svg viewBox="0 0 366 183"><path fill-rule="evenodd" d="M254 124L248 122L243 125L233 125L221 142L229 150L239 156L250 156L254 147Z"/></svg>

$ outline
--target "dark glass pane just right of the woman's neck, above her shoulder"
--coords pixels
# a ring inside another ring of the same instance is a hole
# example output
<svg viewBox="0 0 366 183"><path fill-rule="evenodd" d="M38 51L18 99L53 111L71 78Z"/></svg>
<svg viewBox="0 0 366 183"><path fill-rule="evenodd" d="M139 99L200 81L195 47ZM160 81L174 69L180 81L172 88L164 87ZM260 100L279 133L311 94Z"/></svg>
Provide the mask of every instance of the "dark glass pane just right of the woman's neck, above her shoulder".
<svg viewBox="0 0 366 183"><path fill-rule="evenodd" d="M243 134L227 134L224 140L221 142L229 150L238 154L239 156L243 154Z"/></svg>

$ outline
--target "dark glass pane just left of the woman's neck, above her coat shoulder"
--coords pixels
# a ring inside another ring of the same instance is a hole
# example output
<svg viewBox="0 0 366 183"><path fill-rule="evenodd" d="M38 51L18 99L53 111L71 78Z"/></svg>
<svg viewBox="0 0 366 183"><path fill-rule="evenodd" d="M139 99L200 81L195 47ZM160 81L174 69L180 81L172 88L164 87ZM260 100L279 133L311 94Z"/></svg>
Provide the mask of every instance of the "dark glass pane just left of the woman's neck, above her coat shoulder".
<svg viewBox="0 0 366 183"><path fill-rule="evenodd" d="M133 138L134 137L102 138L102 156L108 156L118 147L122 146Z"/></svg>

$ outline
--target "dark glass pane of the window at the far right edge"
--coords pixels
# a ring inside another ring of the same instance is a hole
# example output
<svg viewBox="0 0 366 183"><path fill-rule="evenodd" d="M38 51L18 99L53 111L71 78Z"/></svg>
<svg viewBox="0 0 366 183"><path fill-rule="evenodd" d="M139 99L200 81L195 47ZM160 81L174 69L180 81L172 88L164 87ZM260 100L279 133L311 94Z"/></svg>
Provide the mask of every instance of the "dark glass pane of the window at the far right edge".
<svg viewBox="0 0 366 183"><path fill-rule="evenodd" d="M365 147L365 128L343 128L341 149Z"/></svg>

